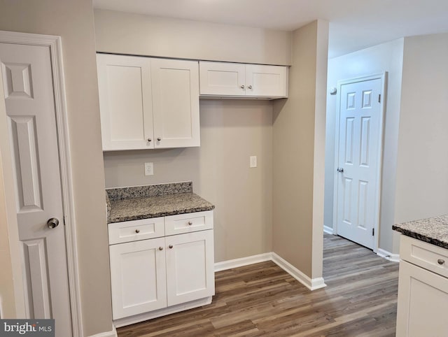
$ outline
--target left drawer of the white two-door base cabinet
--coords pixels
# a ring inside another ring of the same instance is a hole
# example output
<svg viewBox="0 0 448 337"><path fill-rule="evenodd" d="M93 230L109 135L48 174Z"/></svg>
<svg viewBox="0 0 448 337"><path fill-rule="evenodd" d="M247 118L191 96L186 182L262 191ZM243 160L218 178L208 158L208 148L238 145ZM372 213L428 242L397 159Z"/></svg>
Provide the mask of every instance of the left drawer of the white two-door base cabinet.
<svg viewBox="0 0 448 337"><path fill-rule="evenodd" d="M109 224L109 245L164 236L163 217Z"/></svg>

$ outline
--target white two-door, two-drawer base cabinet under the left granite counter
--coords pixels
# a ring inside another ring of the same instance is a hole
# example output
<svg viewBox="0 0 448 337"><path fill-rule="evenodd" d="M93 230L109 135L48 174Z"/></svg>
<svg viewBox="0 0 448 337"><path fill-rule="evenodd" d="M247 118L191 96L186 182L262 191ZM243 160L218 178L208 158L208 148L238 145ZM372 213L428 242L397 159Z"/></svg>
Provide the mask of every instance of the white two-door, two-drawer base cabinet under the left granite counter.
<svg viewBox="0 0 448 337"><path fill-rule="evenodd" d="M167 231L174 223L183 234ZM109 224L109 244L116 326L210 303L215 293L212 210Z"/></svg>

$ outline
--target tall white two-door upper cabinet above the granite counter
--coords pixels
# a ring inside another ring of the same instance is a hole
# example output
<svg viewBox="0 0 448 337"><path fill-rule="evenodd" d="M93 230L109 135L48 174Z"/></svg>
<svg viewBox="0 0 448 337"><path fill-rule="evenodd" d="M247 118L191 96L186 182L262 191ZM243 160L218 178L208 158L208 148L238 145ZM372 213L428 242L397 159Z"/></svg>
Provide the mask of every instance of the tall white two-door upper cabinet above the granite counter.
<svg viewBox="0 0 448 337"><path fill-rule="evenodd" d="M200 145L198 63L97 55L103 150Z"/></svg>

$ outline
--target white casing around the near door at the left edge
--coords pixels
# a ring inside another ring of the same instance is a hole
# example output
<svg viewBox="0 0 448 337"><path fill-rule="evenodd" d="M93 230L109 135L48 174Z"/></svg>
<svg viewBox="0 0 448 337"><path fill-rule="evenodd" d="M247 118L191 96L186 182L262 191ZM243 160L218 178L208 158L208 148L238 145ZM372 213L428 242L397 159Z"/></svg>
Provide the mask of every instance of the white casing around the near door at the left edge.
<svg viewBox="0 0 448 337"><path fill-rule="evenodd" d="M73 336L83 336L83 321L81 315L80 286L78 279L78 251L76 245L76 221L73 196L73 178L71 172L71 151L69 143L69 120L66 109L66 96L64 85L64 67L62 62L62 41L60 36L18 33L14 31L0 31L0 43L13 43L20 45L38 45L48 47L50 50L50 62L52 69L53 94L55 99L55 117L57 129L58 155L62 185L62 207L64 212L64 233L66 241L67 271L69 277L71 327ZM4 155L4 154L3 154ZM12 170L12 168L11 168ZM8 199L15 201L15 192L5 187ZM12 197L11 197L12 196ZM15 227L15 228L14 228ZM8 224L8 232L13 238L18 238L17 222ZM11 235L12 234L12 235ZM17 236L15 236L17 234ZM18 240L10 241L10 245L16 244L10 250L19 249ZM17 259L13 259L13 263ZM20 267L21 268L21 267ZM13 269L18 269L14 268ZM18 276L18 275L16 275ZM22 276L22 275L20 275ZM25 299L22 277L14 280L15 292ZM25 303L18 303L18 312L25 313ZM23 306L23 308L22 308Z"/></svg>

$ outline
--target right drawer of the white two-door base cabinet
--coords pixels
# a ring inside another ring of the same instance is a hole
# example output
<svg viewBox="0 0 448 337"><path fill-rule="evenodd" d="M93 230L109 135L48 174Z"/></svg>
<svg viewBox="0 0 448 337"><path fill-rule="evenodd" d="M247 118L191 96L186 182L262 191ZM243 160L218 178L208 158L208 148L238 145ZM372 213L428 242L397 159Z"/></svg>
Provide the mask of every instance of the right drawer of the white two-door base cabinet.
<svg viewBox="0 0 448 337"><path fill-rule="evenodd" d="M213 229L213 210L165 217L165 235Z"/></svg>

